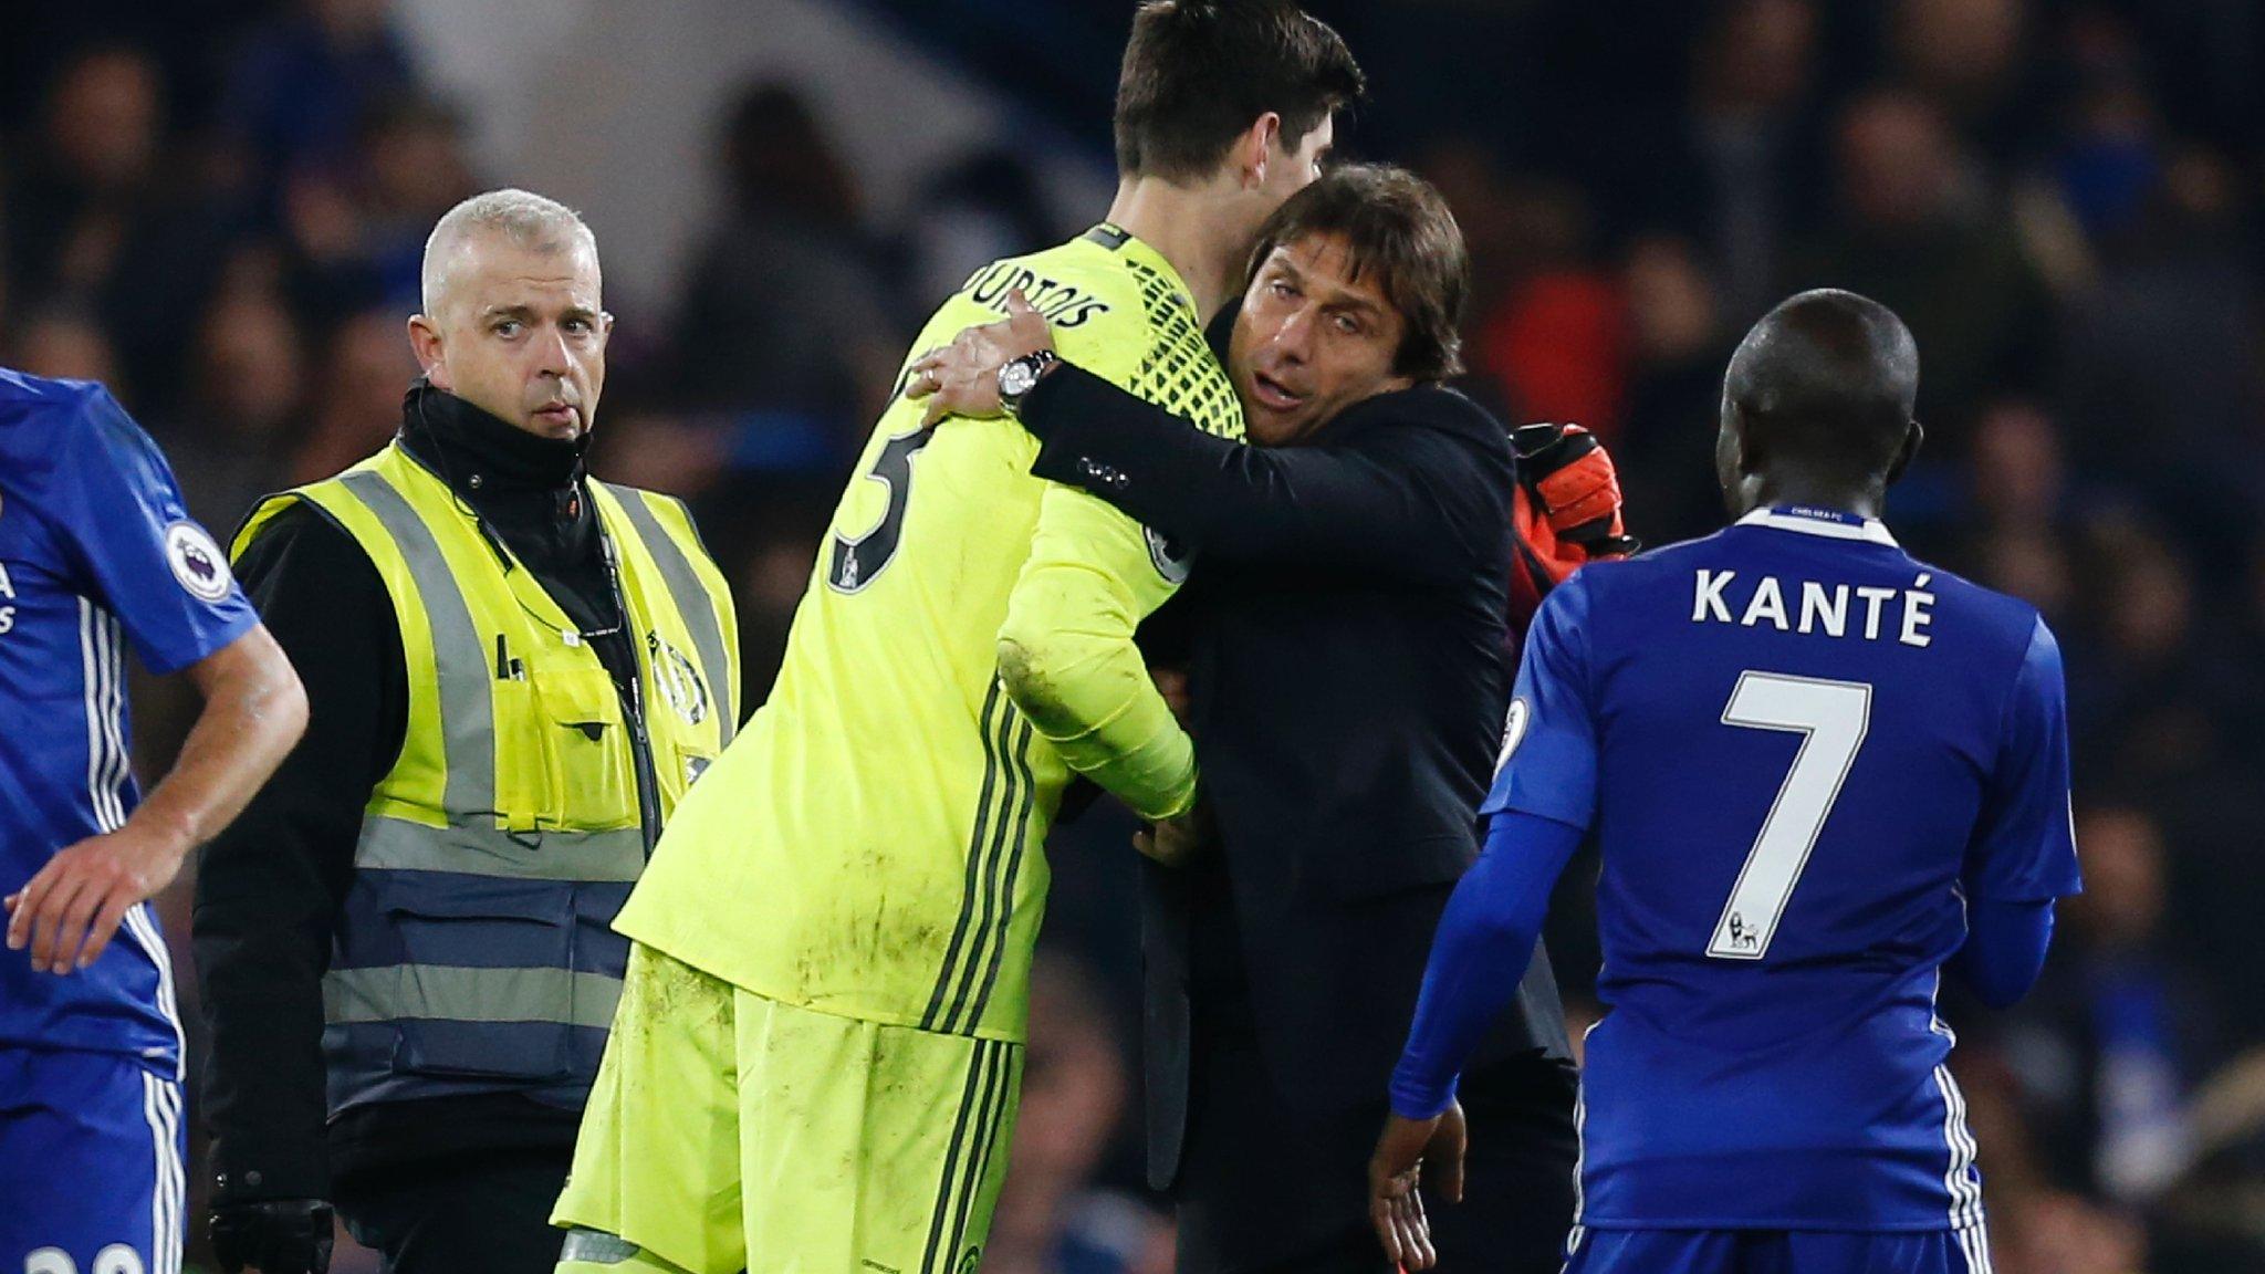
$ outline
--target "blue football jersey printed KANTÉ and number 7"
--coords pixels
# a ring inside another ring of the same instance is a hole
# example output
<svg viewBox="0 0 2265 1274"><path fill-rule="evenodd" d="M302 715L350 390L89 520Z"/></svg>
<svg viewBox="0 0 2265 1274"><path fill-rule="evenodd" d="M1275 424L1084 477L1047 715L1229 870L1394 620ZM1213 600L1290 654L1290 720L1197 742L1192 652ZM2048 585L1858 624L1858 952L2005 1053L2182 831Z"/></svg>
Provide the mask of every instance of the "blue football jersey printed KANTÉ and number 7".
<svg viewBox="0 0 2265 1274"><path fill-rule="evenodd" d="M1776 508L1536 617L1486 812L1595 830L1581 1224L1982 1220L1934 1016L1966 900L2077 891L2036 610Z"/></svg>

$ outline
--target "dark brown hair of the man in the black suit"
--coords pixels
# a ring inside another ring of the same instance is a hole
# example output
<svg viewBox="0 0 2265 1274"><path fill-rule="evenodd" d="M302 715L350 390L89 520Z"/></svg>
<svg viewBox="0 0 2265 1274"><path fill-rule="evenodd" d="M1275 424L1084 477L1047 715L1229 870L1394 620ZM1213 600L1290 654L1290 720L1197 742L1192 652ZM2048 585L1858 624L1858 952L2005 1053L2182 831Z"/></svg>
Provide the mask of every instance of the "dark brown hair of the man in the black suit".
<svg viewBox="0 0 2265 1274"><path fill-rule="evenodd" d="M1463 370L1470 249L1438 188L1407 168L1332 168L1266 218L1250 274L1257 277L1275 247L1314 233L1343 236L1352 277L1375 270L1384 295L1407 320L1393 372L1445 381Z"/></svg>

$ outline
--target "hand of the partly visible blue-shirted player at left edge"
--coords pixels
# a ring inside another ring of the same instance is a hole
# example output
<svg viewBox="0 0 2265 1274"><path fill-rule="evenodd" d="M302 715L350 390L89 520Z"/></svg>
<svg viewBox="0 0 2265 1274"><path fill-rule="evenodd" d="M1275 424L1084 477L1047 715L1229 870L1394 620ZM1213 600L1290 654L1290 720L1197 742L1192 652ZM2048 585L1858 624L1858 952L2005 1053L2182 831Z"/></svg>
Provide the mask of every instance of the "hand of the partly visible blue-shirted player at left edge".
<svg viewBox="0 0 2265 1274"><path fill-rule="evenodd" d="M29 943L32 968L57 975L95 963L127 911L172 884L186 855L186 836L147 818L59 850L7 895L7 948Z"/></svg>

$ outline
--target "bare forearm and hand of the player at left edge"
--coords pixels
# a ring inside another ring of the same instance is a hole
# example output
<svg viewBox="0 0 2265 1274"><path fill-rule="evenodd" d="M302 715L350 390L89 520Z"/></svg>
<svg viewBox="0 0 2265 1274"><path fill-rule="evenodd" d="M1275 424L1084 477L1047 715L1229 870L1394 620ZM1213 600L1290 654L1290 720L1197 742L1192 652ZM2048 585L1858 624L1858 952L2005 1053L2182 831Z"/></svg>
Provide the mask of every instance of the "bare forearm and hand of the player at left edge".
<svg viewBox="0 0 2265 1274"><path fill-rule="evenodd" d="M32 948L32 968L72 973L95 963L127 909L165 889L181 859L226 827L306 732L306 691L267 628L181 671L204 712L172 773L116 832L57 852L7 898L9 950Z"/></svg>

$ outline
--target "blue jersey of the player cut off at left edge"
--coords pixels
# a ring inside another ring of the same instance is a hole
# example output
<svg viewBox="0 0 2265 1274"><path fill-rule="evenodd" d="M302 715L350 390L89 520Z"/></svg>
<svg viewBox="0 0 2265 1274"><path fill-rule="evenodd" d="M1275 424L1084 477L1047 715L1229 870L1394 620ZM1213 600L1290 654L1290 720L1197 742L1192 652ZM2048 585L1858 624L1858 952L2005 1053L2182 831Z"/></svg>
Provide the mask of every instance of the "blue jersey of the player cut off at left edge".
<svg viewBox="0 0 2265 1274"><path fill-rule="evenodd" d="M256 621L165 458L102 385L0 370L0 893L134 812L127 646L170 673ZM134 907L70 975L0 950L0 1047L118 1052L177 1077L154 909Z"/></svg>

